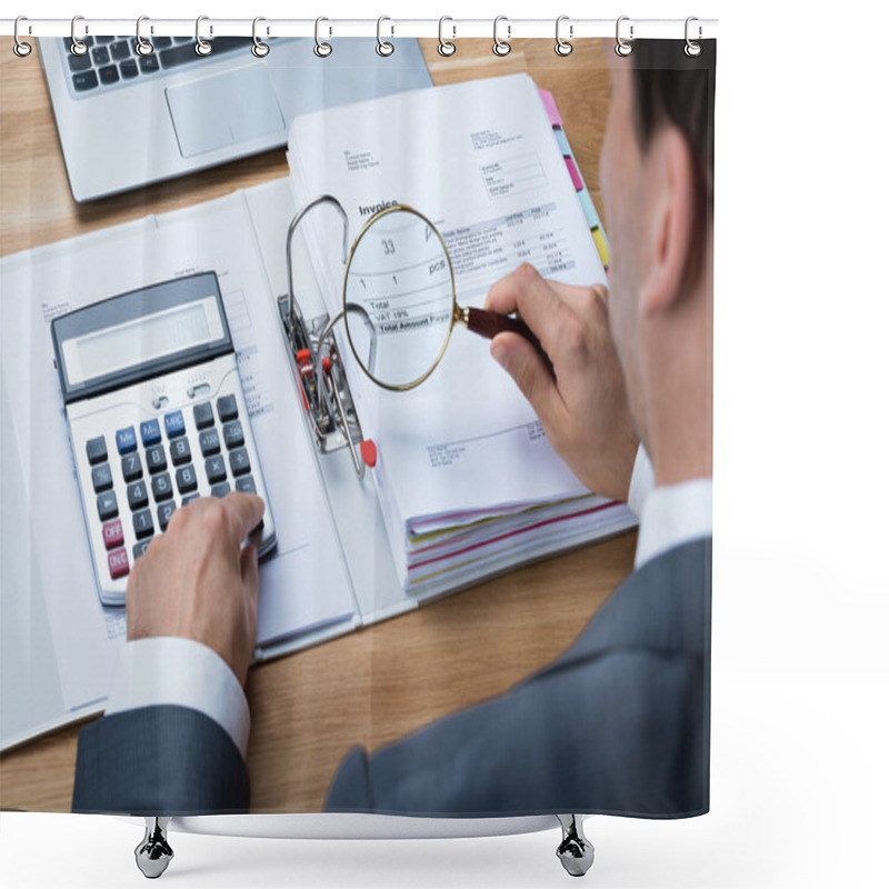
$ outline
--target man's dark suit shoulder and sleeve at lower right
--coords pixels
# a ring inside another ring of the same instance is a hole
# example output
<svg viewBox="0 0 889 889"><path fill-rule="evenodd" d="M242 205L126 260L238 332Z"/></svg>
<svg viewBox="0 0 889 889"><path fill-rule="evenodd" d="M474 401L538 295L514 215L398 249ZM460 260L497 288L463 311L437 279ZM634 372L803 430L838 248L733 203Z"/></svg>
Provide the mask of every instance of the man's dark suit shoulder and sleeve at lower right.
<svg viewBox="0 0 889 889"><path fill-rule="evenodd" d="M709 808L709 539L651 560L555 663L507 695L368 756L334 811L649 818Z"/></svg>

